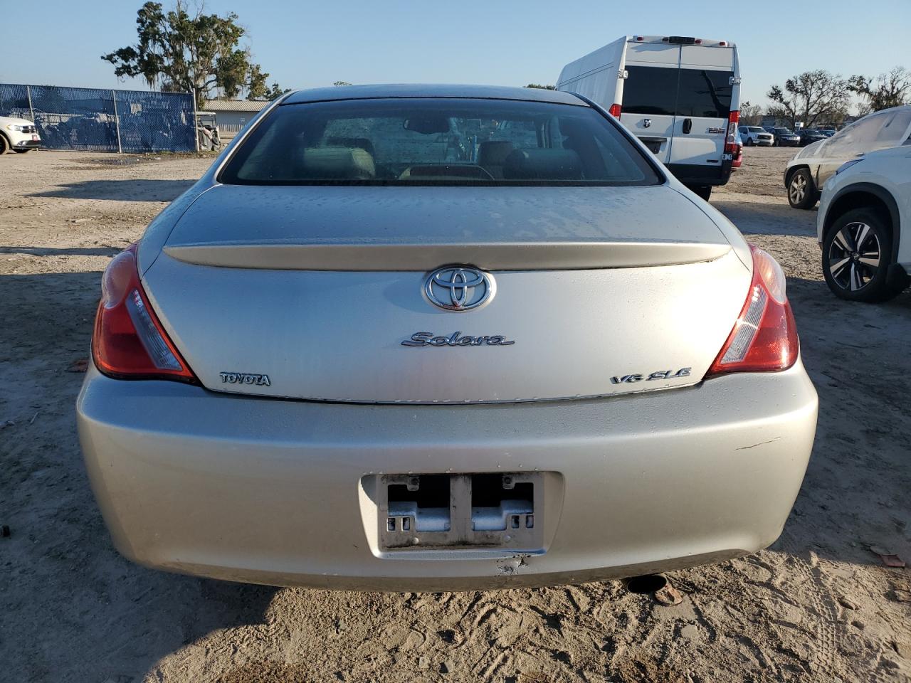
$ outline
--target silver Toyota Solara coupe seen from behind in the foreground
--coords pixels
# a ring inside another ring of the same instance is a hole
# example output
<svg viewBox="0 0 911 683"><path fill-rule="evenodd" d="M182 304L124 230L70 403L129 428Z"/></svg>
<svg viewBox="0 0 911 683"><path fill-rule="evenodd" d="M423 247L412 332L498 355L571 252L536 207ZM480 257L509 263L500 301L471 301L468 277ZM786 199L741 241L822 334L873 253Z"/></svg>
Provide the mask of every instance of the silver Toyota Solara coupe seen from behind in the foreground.
<svg viewBox="0 0 911 683"><path fill-rule="evenodd" d="M118 550L274 585L752 553L814 440L781 268L568 93L304 90L105 272L77 402Z"/></svg>

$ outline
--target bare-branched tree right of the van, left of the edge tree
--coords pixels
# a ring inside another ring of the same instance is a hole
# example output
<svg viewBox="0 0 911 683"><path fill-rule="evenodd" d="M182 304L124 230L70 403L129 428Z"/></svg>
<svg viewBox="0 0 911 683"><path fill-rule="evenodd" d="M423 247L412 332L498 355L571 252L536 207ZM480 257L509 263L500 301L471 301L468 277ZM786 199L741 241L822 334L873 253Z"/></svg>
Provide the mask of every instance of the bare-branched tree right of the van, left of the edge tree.
<svg viewBox="0 0 911 683"><path fill-rule="evenodd" d="M824 69L788 78L783 89L773 86L767 97L776 103L768 113L790 121L791 127L798 122L806 127L817 121L837 123L844 119L850 103L847 81Z"/></svg>

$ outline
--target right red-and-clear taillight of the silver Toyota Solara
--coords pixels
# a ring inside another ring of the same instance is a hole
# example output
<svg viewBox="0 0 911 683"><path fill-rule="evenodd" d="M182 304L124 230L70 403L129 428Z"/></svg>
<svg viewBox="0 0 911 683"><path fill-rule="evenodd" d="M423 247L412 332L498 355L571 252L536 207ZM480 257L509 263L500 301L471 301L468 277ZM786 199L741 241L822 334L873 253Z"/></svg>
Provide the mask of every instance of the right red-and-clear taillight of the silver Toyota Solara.
<svg viewBox="0 0 911 683"><path fill-rule="evenodd" d="M752 245L750 250L750 292L706 379L728 372L787 370L797 362L800 341L782 267L765 251Z"/></svg>

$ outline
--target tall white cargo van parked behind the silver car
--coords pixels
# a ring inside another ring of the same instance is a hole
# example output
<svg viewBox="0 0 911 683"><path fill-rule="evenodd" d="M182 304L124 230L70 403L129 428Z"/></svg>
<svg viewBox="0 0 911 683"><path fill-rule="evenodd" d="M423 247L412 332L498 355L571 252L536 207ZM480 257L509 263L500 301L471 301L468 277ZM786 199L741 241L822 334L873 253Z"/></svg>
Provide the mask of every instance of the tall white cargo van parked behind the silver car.
<svg viewBox="0 0 911 683"><path fill-rule="evenodd" d="M703 199L731 177L740 117L737 46L623 36L570 62L557 80L609 110Z"/></svg>

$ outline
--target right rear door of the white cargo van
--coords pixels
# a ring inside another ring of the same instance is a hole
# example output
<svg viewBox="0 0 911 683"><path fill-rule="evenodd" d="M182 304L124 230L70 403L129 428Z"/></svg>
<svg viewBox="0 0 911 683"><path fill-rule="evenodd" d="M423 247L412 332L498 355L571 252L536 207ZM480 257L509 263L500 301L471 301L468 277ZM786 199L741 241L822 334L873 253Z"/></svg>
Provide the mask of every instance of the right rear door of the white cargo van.
<svg viewBox="0 0 911 683"><path fill-rule="evenodd" d="M724 140L734 98L733 47L681 46L680 80L670 149L670 170L679 178L701 175L678 165L706 167L707 180L730 174L723 158ZM739 88L739 87L738 87ZM722 168L723 167L723 168ZM717 172L711 172L717 168ZM678 175L679 172L679 175Z"/></svg>

